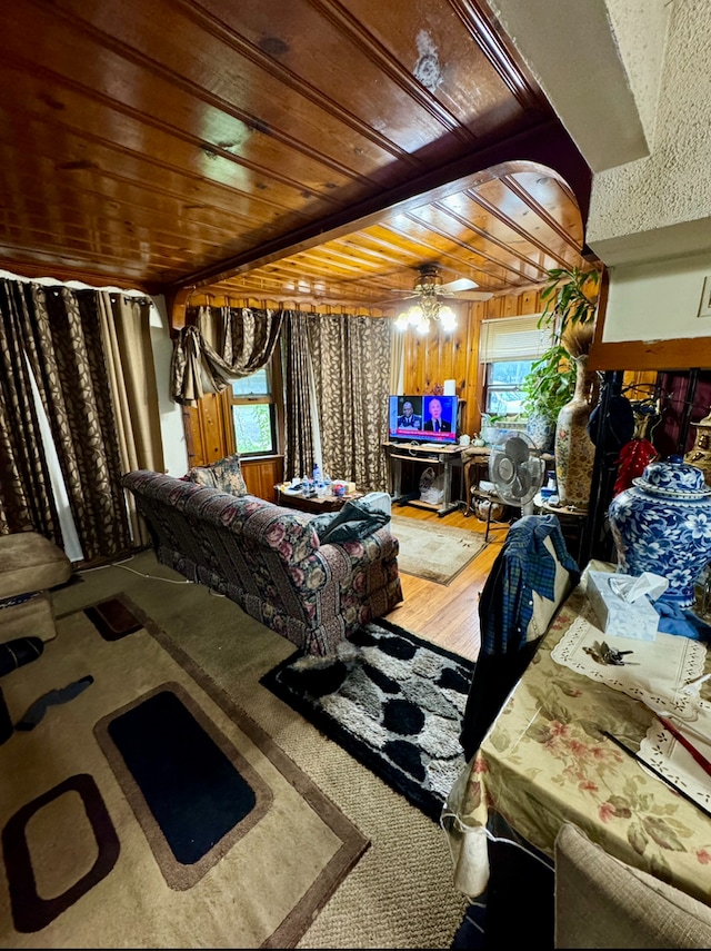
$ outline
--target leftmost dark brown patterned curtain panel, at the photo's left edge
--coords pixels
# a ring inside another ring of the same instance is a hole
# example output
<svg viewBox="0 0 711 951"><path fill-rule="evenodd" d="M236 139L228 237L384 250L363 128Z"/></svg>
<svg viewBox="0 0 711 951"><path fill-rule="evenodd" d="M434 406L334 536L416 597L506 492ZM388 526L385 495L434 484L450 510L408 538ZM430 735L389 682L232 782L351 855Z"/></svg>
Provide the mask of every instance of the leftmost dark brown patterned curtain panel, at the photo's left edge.
<svg viewBox="0 0 711 951"><path fill-rule="evenodd" d="M0 280L0 534L34 531L62 547L24 355L32 315L29 285Z"/></svg>

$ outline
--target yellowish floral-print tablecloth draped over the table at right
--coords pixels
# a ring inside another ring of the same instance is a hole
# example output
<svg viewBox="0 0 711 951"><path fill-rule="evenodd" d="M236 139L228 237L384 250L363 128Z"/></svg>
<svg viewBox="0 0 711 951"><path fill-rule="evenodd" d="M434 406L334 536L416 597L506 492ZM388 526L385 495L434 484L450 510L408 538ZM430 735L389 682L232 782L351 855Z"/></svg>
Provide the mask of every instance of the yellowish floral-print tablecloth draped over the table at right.
<svg viewBox="0 0 711 951"><path fill-rule="evenodd" d="M653 713L551 657L569 626L589 614L584 585L583 574L448 796L441 824L454 883L470 898L485 889L487 825L495 812L551 858L562 823L573 822L618 859L711 904L711 819L601 733L637 752ZM700 695L711 701L711 680Z"/></svg>

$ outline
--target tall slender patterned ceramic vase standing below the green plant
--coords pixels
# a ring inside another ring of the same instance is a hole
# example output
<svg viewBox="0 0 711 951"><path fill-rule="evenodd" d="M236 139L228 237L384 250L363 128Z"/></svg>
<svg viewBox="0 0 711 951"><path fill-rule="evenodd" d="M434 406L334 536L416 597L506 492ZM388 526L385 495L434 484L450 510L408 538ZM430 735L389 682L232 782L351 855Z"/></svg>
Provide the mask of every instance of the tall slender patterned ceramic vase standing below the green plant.
<svg viewBox="0 0 711 951"><path fill-rule="evenodd" d="M555 424L555 478L561 505L587 508L592 487L595 447L588 435L595 375L588 370L588 356L574 357L573 398L558 414Z"/></svg>

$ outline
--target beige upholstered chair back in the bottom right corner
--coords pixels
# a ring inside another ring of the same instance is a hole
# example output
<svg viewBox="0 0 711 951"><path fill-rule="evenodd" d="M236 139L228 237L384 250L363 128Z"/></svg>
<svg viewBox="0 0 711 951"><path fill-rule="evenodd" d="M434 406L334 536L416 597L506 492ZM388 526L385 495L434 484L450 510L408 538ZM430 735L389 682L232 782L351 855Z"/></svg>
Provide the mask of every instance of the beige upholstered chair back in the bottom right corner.
<svg viewBox="0 0 711 951"><path fill-rule="evenodd" d="M555 948L710 947L711 908L563 823L555 839Z"/></svg>

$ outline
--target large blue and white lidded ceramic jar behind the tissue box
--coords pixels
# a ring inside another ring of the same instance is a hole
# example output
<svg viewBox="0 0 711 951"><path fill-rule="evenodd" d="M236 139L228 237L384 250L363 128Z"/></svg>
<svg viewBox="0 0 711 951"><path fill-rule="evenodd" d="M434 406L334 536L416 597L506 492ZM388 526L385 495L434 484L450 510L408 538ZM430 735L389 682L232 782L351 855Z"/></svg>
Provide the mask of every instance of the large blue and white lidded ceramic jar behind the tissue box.
<svg viewBox="0 0 711 951"><path fill-rule="evenodd" d="M681 456L650 463L608 509L618 572L668 578L660 601L690 607L694 582L711 561L711 487Z"/></svg>

